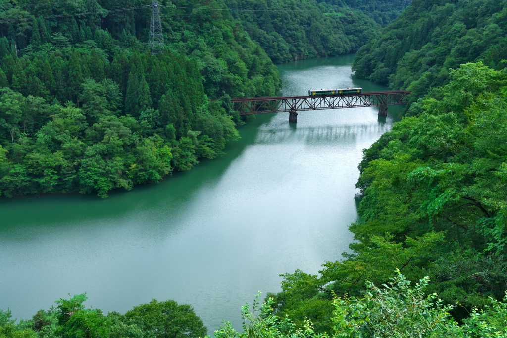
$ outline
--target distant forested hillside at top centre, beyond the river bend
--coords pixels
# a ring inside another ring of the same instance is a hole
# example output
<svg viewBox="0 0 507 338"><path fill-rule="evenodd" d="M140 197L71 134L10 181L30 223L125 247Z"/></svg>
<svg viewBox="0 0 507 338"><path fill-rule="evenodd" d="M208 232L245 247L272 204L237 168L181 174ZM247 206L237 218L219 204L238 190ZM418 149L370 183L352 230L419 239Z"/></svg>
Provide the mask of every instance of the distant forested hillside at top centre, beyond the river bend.
<svg viewBox="0 0 507 338"><path fill-rule="evenodd" d="M410 4L404 1L225 0L275 63L356 52Z"/></svg>

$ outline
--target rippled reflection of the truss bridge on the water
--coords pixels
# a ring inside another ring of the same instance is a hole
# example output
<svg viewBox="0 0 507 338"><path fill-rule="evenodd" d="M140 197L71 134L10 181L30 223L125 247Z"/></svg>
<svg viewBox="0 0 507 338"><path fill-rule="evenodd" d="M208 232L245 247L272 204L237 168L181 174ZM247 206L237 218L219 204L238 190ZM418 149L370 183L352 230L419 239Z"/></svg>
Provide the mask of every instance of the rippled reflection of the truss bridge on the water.
<svg viewBox="0 0 507 338"><path fill-rule="evenodd" d="M383 134L389 131L387 124L354 124L326 127L305 127L297 129L261 129L257 135L256 143L271 144L290 141L304 141L312 143L335 142L344 139L355 139L361 135Z"/></svg>

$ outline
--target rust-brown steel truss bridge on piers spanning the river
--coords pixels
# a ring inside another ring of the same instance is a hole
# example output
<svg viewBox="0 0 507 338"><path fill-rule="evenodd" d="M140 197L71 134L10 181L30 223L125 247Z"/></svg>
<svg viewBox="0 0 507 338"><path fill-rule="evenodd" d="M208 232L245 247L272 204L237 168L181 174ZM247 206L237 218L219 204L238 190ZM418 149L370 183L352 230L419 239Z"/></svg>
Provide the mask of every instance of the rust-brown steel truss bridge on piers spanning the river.
<svg viewBox="0 0 507 338"><path fill-rule="evenodd" d="M407 90L386 90L317 96L238 98L231 99L231 102L239 115L288 112L289 121L297 122L297 112L307 110L380 107L379 115L386 116L388 105L406 104L405 96L410 93L411 91Z"/></svg>

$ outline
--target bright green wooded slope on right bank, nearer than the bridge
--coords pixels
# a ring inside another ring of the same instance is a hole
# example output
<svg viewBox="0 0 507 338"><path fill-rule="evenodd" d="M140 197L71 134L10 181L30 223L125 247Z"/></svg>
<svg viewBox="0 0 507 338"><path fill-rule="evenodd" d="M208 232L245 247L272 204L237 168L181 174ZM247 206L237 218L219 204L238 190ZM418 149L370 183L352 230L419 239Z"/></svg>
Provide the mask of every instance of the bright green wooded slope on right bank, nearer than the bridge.
<svg viewBox="0 0 507 338"><path fill-rule="evenodd" d="M361 297L395 269L429 276L429 294L456 319L507 291L507 72L468 63L450 72L441 98L394 125L360 164L364 193L356 243L318 275L285 274L276 313L317 332L333 327L332 299Z"/></svg>

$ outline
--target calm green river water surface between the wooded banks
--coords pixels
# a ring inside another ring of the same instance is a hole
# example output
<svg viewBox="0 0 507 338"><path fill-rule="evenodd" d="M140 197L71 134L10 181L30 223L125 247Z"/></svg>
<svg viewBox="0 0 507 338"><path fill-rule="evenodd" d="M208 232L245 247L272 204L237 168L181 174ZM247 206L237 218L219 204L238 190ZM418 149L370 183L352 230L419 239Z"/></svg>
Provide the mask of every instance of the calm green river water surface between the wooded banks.
<svg viewBox="0 0 507 338"><path fill-rule="evenodd" d="M278 66L283 95L363 87L353 55ZM174 299L212 333L240 328L240 307L280 290L279 274L316 273L352 241L361 150L399 119L377 108L261 115L227 155L159 184L84 195L0 199L0 308L30 318L86 292L87 306L124 313Z"/></svg>

